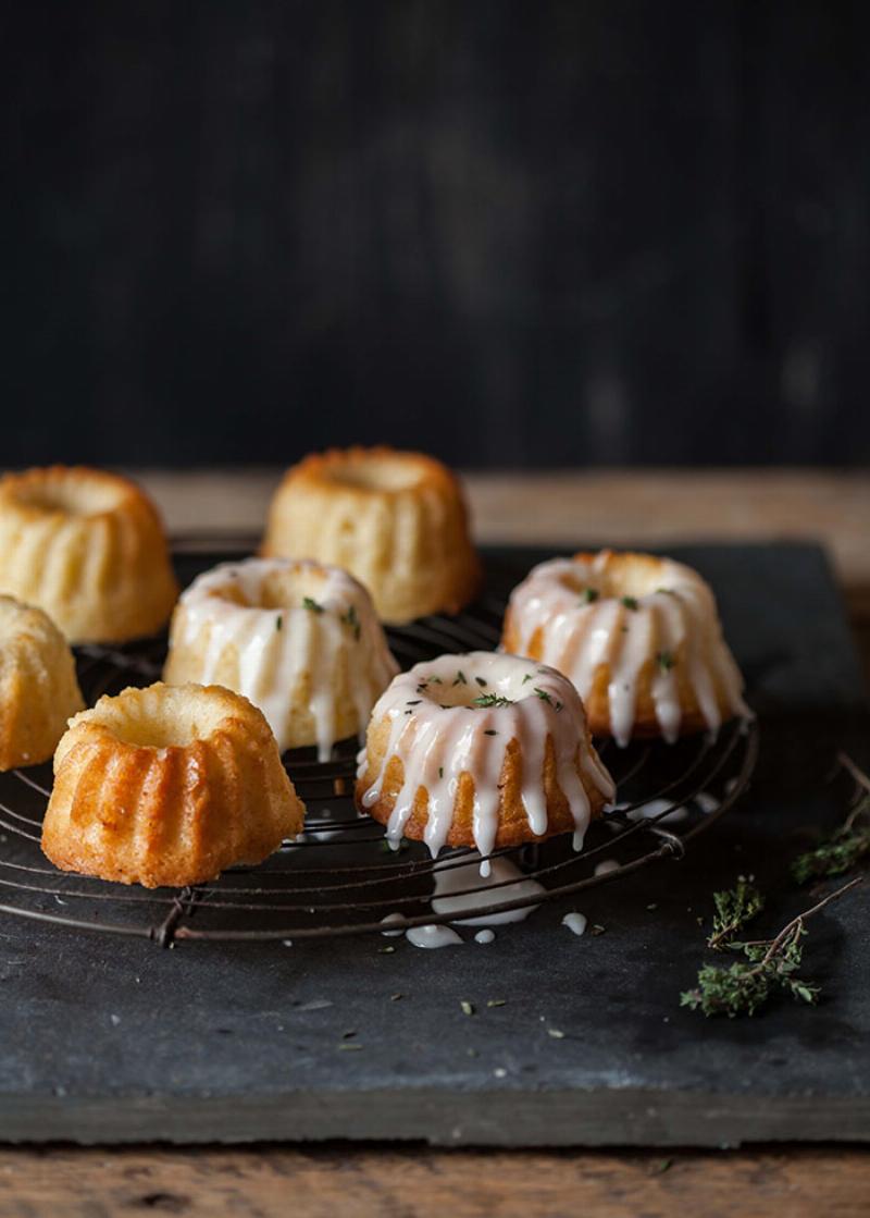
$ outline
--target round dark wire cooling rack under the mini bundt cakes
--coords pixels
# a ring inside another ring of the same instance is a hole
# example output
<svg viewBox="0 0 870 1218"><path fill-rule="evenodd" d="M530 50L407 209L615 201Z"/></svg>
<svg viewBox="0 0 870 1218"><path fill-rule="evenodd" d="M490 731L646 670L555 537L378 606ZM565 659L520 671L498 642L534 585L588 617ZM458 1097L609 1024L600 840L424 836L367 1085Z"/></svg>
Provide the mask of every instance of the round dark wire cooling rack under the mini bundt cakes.
<svg viewBox="0 0 870 1218"><path fill-rule="evenodd" d="M203 563L208 565L208 563ZM433 616L388 631L391 648L408 667L443 652L498 644L504 599L484 597L455 618ZM89 704L103 693L159 677L165 638L124 647L78 650ZM327 762L313 749L285 758L308 808L297 842L258 867L232 868L209 884L148 890L56 870L39 848L50 765L0 776L0 912L71 929L179 942L318 939L372 932L402 933L475 918L500 918L544 901L613 883L655 862L680 860L694 838L746 790L758 753L753 721L736 720L717 736L674 745L636 743L600 752L617 781L619 803L594 822L583 849L569 836L496 850L516 872L483 879L479 856L453 850L432 860L420 843L393 851L383 828L358 816L352 788L357 742L336 747ZM432 906L436 873L451 877L449 910ZM385 918L389 918L385 926Z"/></svg>

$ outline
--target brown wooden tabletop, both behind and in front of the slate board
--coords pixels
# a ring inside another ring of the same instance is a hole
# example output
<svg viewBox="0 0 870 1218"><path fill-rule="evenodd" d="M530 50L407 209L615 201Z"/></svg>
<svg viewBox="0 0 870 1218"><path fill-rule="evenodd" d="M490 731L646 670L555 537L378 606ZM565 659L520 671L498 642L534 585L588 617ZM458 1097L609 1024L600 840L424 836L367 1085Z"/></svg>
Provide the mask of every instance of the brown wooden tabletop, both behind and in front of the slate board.
<svg viewBox="0 0 870 1218"><path fill-rule="evenodd" d="M279 471L148 471L140 480L169 529L259 531ZM816 538L830 551L865 663L870 659L870 476L752 470L473 475L484 542ZM0 1149L0 1214L52 1218L169 1213L294 1218L517 1216L556 1218L870 1213L860 1147L740 1151L434 1151Z"/></svg>

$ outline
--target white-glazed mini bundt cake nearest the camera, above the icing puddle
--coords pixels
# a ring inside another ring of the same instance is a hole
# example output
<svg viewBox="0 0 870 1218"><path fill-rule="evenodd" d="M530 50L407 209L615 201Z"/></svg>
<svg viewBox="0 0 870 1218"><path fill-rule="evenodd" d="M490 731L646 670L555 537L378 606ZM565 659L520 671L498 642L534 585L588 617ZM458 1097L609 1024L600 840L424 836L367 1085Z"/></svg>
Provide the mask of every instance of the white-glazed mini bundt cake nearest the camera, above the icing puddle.
<svg viewBox="0 0 870 1218"><path fill-rule="evenodd" d="M387 838L496 847L573 832L613 799L583 704L561 674L513 655L442 655L376 704L357 805Z"/></svg>

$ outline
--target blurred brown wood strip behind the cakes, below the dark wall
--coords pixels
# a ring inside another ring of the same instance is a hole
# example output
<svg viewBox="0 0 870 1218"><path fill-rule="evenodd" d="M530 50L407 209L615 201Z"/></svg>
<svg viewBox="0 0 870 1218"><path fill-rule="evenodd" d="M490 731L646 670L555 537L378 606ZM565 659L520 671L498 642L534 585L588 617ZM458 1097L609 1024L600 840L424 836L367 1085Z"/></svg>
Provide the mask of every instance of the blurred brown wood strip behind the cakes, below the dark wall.
<svg viewBox="0 0 870 1218"><path fill-rule="evenodd" d="M173 531L257 533L279 469L142 470ZM843 582L870 591L870 475L840 470L589 470L467 474L482 542L614 546L815 538Z"/></svg>

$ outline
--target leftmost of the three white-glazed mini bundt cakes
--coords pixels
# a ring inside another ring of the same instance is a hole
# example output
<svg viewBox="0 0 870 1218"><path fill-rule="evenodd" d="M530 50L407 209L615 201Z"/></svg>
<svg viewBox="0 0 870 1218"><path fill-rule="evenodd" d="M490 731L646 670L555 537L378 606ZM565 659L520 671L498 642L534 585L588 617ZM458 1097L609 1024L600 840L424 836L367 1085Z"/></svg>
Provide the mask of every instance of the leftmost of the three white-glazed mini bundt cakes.
<svg viewBox="0 0 870 1218"><path fill-rule="evenodd" d="M164 680L217 682L259 706L281 750L360 734L397 672L371 597L347 571L280 558L198 576L173 615Z"/></svg>

